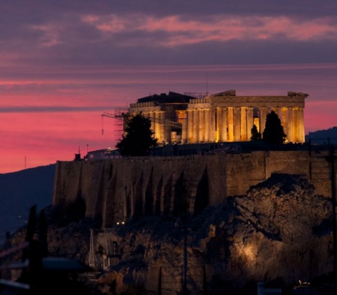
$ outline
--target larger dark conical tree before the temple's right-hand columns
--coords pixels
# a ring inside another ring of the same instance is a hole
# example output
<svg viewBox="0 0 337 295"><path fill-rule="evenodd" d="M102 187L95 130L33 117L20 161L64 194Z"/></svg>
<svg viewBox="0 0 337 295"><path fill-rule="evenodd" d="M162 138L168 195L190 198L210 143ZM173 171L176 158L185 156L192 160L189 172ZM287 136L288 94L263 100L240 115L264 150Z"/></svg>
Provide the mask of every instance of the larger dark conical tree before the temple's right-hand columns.
<svg viewBox="0 0 337 295"><path fill-rule="evenodd" d="M279 116L272 110L265 119L265 130L263 131L263 141L265 143L281 144L287 135L283 131Z"/></svg>

